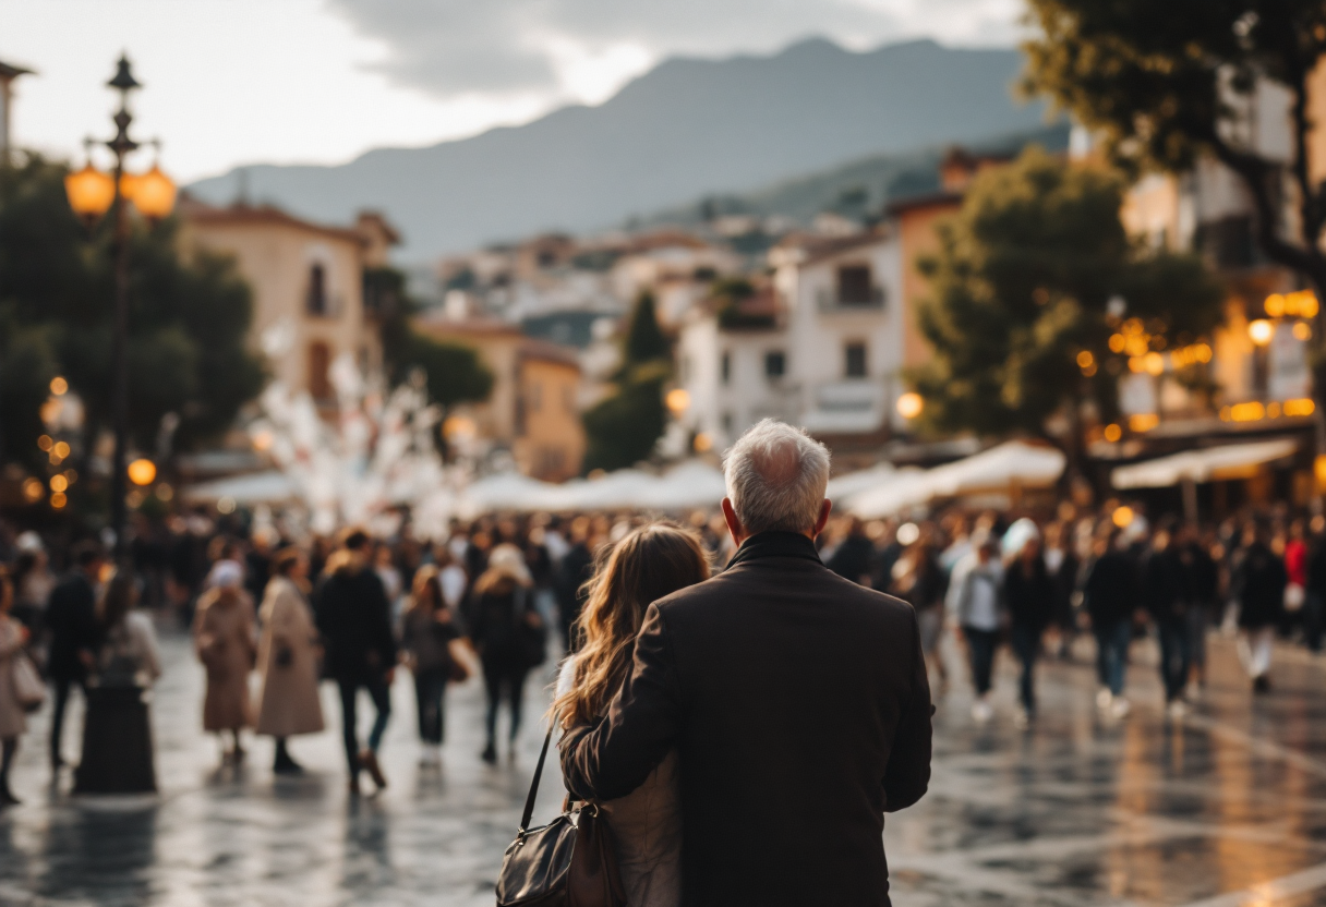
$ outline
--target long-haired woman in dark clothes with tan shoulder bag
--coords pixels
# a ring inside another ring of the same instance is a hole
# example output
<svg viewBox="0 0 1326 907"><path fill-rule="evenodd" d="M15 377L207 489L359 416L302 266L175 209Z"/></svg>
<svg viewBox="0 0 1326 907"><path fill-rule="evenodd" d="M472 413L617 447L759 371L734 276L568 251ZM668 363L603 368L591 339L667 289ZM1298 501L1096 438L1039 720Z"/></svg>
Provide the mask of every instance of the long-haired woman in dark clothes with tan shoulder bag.
<svg viewBox="0 0 1326 907"><path fill-rule="evenodd" d="M419 764L424 768L442 765L447 684L456 668L451 643L459 636L456 613L443 594L440 572L432 565L419 568L402 618L402 648L415 682L419 740L423 743Z"/></svg>

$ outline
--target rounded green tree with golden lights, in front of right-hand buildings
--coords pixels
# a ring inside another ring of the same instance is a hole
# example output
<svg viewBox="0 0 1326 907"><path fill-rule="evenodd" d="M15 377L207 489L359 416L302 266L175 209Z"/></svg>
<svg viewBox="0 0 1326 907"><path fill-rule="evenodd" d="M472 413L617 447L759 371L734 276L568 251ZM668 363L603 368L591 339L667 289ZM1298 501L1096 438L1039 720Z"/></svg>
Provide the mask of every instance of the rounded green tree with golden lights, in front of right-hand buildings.
<svg viewBox="0 0 1326 907"><path fill-rule="evenodd" d="M1122 196L1116 174L1034 147L973 182L940 223L939 251L919 263L931 296L918 325L934 355L908 377L930 426L1049 438L1063 415L1079 463L1082 404L1113 418L1130 363L1193 346L1217 324L1220 285L1193 256L1130 241ZM1124 333L1130 346L1111 347Z"/></svg>

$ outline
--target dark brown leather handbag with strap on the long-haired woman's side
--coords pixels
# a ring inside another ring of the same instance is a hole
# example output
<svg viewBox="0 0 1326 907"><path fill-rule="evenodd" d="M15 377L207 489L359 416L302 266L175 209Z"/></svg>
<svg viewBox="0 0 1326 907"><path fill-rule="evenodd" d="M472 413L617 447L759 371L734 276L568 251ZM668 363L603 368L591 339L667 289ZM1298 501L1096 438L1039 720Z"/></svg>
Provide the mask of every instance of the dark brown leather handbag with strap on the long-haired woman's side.
<svg viewBox="0 0 1326 907"><path fill-rule="evenodd" d="M627 907L611 833L597 806L573 810L568 802L548 825L529 827L552 740L549 728L520 829L501 861L497 907Z"/></svg>

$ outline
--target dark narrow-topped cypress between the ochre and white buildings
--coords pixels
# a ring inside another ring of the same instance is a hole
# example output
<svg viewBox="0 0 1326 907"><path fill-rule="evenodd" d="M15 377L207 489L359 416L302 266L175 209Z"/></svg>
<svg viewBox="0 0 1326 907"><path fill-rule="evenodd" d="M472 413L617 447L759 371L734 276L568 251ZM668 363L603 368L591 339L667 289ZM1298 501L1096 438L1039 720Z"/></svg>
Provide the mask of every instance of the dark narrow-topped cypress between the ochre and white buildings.
<svg viewBox="0 0 1326 907"><path fill-rule="evenodd" d="M644 290L631 310L614 391L582 416L586 471L621 469L650 457L667 427L663 389L671 374L671 343L659 329L654 296Z"/></svg>

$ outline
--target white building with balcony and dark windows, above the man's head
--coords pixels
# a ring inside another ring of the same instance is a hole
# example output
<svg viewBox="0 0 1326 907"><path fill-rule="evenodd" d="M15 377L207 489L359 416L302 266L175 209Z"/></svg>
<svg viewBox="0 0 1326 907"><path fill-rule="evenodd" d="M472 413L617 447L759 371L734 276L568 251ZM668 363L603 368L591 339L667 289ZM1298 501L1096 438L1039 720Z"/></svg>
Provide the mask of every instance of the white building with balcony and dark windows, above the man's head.
<svg viewBox="0 0 1326 907"><path fill-rule="evenodd" d="M769 253L772 284L725 312L696 308L682 326L679 420L721 450L765 416L835 448L875 447L904 393L902 256L884 228L789 237Z"/></svg>

